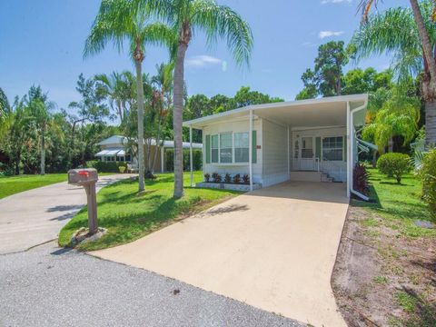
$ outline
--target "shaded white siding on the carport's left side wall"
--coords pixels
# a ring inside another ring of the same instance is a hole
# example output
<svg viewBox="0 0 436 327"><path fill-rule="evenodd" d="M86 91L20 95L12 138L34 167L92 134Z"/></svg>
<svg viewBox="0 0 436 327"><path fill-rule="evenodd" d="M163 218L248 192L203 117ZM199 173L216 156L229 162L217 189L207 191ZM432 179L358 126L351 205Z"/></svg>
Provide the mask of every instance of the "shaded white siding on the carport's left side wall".
<svg viewBox="0 0 436 327"><path fill-rule="evenodd" d="M263 119L263 186L289 179L287 127Z"/></svg>

